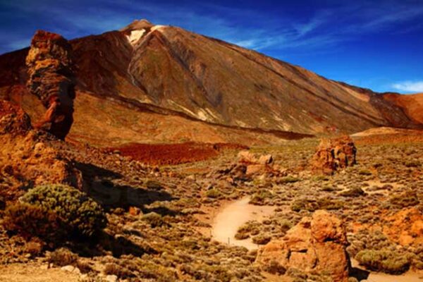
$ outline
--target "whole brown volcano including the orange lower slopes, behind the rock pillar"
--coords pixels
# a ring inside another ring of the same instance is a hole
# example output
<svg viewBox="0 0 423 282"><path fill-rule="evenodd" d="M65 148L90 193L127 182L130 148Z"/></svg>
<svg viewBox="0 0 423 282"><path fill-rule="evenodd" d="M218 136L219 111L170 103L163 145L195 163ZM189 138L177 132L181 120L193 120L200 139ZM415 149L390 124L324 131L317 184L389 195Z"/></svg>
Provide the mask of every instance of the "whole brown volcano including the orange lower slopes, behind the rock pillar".
<svg viewBox="0 0 423 282"><path fill-rule="evenodd" d="M135 20L70 42L75 140L254 143L423 123L422 94L375 93L179 27ZM37 118L24 86L27 51L0 56L0 95Z"/></svg>

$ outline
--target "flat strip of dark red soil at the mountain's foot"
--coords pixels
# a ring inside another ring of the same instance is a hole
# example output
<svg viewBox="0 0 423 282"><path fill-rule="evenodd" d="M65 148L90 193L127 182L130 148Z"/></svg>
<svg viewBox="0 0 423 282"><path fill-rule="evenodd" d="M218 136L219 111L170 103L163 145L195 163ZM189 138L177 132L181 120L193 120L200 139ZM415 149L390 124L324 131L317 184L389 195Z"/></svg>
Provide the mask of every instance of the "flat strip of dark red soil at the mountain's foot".
<svg viewBox="0 0 423 282"><path fill-rule="evenodd" d="M217 157L226 149L248 149L248 147L233 143L198 143L185 142L178 144L129 144L122 147L109 148L119 150L125 157L133 157L147 164L185 164L194 161L204 161Z"/></svg>

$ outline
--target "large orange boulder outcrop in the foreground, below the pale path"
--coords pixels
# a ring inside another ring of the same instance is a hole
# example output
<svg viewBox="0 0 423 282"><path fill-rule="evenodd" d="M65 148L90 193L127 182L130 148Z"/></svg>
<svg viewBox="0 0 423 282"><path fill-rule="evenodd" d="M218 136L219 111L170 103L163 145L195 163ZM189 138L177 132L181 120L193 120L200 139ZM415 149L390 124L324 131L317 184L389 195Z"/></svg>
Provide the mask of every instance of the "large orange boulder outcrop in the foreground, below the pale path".
<svg viewBox="0 0 423 282"><path fill-rule="evenodd" d="M333 281L348 281L348 241L340 219L326 211L303 218L279 240L259 249L256 262L263 269L300 269L326 273ZM277 267L276 267L277 266Z"/></svg>

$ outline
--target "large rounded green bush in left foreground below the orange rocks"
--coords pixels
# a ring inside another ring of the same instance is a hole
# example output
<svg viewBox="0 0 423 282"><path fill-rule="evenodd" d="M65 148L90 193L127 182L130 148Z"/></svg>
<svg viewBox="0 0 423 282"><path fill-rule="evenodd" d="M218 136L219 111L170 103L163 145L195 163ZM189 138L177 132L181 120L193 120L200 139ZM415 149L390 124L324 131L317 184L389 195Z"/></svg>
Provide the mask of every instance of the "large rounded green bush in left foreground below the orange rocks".
<svg viewBox="0 0 423 282"><path fill-rule="evenodd" d="M67 185L37 186L23 195L21 201L43 212L53 212L75 235L90 237L106 226L102 207L84 192Z"/></svg>

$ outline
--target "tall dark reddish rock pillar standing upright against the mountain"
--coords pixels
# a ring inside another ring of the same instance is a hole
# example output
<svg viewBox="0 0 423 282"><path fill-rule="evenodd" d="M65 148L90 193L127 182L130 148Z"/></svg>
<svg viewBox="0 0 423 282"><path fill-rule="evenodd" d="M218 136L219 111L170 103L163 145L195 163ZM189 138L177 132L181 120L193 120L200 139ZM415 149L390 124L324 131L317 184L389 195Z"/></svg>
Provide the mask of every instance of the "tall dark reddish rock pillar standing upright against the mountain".
<svg viewBox="0 0 423 282"><path fill-rule="evenodd" d="M38 30L26 58L27 87L47 111L35 127L64 139L73 123L75 75L71 44L61 35Z"/></svg>

